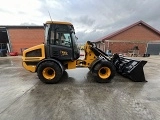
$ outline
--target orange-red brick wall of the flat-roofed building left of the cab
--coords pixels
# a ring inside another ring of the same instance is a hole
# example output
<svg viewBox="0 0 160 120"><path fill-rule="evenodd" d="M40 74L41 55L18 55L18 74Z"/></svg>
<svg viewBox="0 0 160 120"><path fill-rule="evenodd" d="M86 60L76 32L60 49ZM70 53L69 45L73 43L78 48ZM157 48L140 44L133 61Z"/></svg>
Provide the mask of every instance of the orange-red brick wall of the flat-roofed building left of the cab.
<svg viewBox="0 0 160 120"><path fill-rule="evenodd" d="M42 28L12 28L8 30L11 51L21 54L21 49L29 48L44 41Z"/></svg>

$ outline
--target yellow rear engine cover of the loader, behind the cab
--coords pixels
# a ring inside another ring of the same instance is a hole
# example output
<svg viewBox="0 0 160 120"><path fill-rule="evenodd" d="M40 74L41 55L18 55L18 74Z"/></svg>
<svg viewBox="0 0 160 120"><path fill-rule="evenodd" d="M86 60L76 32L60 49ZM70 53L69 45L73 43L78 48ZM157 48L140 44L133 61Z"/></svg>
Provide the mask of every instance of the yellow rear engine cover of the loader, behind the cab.
<svg viewBox="0 0 160 120"><path fill-rule="evenodd" d="M40 49L41 50L41 56L36 57L36 55L34 57L28 57L26 56L27 53L32 52L33 50L37 50ZM44 48L44 44L40 44L34 47L31 47L29 49L26 49L23 51L23 57L22 57L22 65L23 67L31 72L36 72L36 65L27 65L27 62L39 62L41 60L45 59L45 48Z"/></svg>

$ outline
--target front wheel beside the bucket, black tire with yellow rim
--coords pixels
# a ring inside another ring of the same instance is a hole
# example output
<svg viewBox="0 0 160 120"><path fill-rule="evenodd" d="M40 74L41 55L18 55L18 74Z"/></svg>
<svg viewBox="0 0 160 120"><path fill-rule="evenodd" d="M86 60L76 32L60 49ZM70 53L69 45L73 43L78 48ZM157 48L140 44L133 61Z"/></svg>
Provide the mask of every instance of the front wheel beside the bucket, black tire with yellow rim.
<svg viewBox="0 0 160 120"><path fill-rule="evenodd" d="M111 82L116 73L115 67L109 61L101 61L93 69L93 76L99 83Z"/></svg>

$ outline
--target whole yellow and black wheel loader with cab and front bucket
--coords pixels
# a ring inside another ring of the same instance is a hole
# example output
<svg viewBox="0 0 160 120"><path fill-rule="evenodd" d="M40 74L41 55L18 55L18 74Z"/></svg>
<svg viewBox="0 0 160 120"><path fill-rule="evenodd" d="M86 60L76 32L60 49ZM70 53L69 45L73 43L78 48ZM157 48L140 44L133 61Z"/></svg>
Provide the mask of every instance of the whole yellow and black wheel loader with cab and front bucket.
<svg viewBox="0 0 160 120"><path fill-rule="evenodd" d="M111 82L116 71L133 81L146 81L143 66L147 61L127 59L118 54L109 57L90 41L84 47L84 60L80 60L77 37L71 23L48 21L44 27L44 43L24 50L22 56L23 67L37 72L42 82L57 83L66 69L76 67L88 67L100 83Z"/></svg>

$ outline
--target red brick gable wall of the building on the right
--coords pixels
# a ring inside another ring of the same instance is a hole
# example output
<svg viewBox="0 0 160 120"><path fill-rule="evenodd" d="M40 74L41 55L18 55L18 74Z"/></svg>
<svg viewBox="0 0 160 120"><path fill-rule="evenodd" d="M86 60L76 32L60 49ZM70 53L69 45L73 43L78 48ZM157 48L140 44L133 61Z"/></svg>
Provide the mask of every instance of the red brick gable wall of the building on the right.
<svg viewBox="0 0 160 120"><path fill-rule="evenodd" d="M137 25L126 30L109 40L105 41L106 49L112 50L113 53L128 53L128 50L138 46L140 55L146 53L147 43L150 41L160 41L160 35L150 30L144 25Z"/></svg>

